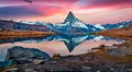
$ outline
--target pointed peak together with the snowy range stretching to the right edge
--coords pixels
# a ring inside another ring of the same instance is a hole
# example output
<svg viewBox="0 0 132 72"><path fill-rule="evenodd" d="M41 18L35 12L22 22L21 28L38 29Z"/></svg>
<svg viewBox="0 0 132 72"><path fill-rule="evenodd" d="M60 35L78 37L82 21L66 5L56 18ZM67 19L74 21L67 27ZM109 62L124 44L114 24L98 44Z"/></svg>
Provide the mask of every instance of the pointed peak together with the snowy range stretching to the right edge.
<svg viewBox="0 0 132 72"><path fill-rule="evenodd" d="M122 22L117 24L87 24L78 20L73 12L69 11L67 17L63 23L48 25L51 29L61 34L75 34L75 33L92 33L112 28L121 28L132 26L132 21Z"/></svg>

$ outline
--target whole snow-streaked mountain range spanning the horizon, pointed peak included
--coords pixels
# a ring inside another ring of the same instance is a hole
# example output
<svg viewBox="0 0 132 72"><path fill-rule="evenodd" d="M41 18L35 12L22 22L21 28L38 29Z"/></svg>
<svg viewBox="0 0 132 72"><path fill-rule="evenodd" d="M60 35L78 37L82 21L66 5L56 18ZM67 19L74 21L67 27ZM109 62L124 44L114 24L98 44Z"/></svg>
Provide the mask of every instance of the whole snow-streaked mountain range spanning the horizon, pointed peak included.
<svg viewBox="0 0 132 72"><path fill-rule="evenodd" d="M122 22L117 24L87 24L78 20L72 12L68 13L66 20L63 23L52 24L44 22L14 22L0 20L1 29L19 29L19 31L43 31L43 32L56 32L61 34L74 34L74 33L92 33L105 29L121 28L132 26L132 21Z"/></svg>

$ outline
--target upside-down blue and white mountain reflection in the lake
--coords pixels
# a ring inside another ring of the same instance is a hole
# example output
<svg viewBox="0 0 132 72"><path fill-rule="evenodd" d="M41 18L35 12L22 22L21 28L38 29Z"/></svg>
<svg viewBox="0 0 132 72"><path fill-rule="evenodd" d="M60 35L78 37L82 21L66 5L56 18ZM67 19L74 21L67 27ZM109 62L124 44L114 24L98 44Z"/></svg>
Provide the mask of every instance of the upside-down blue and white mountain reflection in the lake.
<svg viewBox="0 0 132 72"><path fill-rule="evenodd" d="M36 39L37 43L40 41L64 41L65 46L67 47L68 51L72 52L75 47L82 44L86 40L117 40L122 41L121 39L102 37L97 35L52 35L44 37L43 39Z"/></svg>

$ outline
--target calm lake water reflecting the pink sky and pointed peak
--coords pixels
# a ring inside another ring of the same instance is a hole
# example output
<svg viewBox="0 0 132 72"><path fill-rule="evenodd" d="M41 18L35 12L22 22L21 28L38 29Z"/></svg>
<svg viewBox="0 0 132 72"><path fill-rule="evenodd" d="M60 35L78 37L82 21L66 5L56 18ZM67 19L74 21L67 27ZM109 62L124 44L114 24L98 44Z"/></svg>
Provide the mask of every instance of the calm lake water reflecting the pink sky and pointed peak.
<svg viewBox="0 0 132 72"><path fill-rule="evenodd" d="M0 40L0 61L4 61L7 50L14 46L40 49L51 57L81 55L100 45L112 46L123 40L97 35L51 35L40 38L15 38Z"/></svg>

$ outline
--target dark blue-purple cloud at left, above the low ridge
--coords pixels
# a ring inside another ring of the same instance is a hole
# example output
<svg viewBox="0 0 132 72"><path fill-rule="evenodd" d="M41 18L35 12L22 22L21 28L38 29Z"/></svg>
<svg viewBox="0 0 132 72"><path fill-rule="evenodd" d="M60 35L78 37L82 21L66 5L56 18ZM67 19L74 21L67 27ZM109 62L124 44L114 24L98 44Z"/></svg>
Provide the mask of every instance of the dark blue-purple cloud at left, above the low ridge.
<svg viewBox="0 0 132 72"><path fill-rule="evenodd" d="M1 7L0 17L22 17L41 15L35 9L28 7Z"/></svg>

